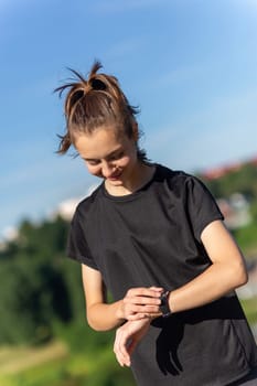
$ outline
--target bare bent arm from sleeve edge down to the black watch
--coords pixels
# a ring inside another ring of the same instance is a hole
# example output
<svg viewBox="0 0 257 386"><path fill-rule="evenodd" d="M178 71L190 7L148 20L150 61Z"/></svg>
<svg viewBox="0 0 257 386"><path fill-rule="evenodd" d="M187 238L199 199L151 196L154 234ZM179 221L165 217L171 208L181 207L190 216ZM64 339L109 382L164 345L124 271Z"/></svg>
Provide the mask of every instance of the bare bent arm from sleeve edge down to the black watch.
<svg viewBox="0 0 257 386"><path fill-rule="evenodd" d="M244 257L222 222L207 225L201 239L213 264L170 293L169 305L173 312L210 303L247 282Z"/></svg>

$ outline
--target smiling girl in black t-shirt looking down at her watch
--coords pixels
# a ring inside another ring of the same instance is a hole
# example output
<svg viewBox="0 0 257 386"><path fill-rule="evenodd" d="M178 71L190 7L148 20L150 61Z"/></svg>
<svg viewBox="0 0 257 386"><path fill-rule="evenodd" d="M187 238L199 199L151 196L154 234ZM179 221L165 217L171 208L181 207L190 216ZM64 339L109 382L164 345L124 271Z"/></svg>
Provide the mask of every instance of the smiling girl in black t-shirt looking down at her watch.
<svg viewBox="0 0 257 386"><path fill-rule="evenodd" d="M242 253L201 181L148 160L137 109L100 67L56 89L66 92L58 152L74 147L103 180L68 238L87 321L116 329L116 357L138 385L257 385L256 343L234 291L247 281Z"/></svg>

